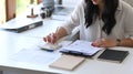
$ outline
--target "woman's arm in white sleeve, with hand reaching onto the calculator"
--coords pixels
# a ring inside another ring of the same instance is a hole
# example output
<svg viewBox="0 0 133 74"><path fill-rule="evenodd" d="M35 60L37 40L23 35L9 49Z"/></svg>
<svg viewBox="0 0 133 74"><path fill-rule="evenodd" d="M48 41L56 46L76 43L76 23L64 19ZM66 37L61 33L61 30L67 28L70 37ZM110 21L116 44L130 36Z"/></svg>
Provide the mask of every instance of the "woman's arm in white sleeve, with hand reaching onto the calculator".
<svg viewBox="0 0 133 74"><path fill-rule="evenodd" d="M63 27L57 29L57 32L50 33L49 35L43 38L44 42L55 43L59 39L65 36L66 34L71 34L72 30L80 25L80 18L83 15L83 1L74 9L70 19L63 24Z"/></svg>

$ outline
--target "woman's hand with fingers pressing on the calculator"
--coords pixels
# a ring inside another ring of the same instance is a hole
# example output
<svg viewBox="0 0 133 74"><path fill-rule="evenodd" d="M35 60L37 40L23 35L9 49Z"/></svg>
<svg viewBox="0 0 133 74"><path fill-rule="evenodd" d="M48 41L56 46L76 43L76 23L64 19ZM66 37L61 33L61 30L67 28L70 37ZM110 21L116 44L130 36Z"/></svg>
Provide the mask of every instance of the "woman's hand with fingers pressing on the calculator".
<svg viewBox="0 0 133 74"><path fill-rule="evenodd" d="M58 40L59 38L57 33L50 33L49 35L43 38L44 42L52 43L52 44L54 44Z"/></svg>

